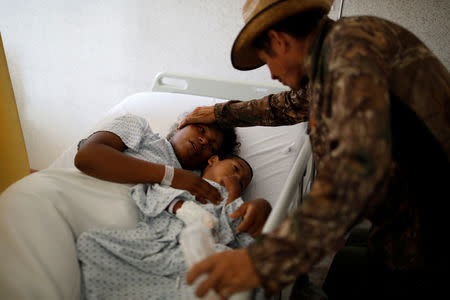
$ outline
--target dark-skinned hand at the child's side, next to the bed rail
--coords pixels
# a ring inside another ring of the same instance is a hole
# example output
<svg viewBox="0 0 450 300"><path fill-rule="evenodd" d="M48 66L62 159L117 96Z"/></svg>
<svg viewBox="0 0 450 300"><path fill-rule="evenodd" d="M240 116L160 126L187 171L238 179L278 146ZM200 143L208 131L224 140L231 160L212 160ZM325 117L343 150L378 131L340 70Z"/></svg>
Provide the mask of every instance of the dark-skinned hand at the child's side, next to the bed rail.
<svg viewBox="0 0 450 300"><path fill-rule="evenodd" d="M230 214L233 219L244 216L244 220L236 228L237 232L248 232L252 237L259 235L272 211L272 206L265 199L250 200L242 204Z"/></svg>

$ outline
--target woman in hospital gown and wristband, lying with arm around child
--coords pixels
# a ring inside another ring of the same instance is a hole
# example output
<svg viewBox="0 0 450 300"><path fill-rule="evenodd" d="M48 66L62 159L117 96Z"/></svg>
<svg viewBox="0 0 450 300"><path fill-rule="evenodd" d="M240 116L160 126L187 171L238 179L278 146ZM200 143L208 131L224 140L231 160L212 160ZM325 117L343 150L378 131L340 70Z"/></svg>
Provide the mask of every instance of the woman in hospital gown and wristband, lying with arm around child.
<svg viewBox="0 0 450 300"><path fill-rule="evenodd" d="M194 172L214 154L219 156L237 151L239 143L234 128L219 128L215 124L193 124L173 130L168 138L153 133L147 120L127 114L106 124L79 144L75 166L93 177L122 183L160 183L186 190L197 201L219 203L218 190ZM267 201L266 201L267 202ZM245 223L241 230L254 230L252 224L268 216L268 203L251 201L245 207ZM269 205L270 206L270 205ZM261 229L261 228L258 228Z"/></svg>

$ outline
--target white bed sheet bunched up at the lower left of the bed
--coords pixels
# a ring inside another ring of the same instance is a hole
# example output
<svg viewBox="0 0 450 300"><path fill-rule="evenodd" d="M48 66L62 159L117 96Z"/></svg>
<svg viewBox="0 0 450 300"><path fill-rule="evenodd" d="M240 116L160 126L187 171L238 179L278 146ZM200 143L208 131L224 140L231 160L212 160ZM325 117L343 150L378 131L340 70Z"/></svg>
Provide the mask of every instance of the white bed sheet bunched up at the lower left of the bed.
<svg viewBox="0 0 450 300"><path fill-rule="evenodd" d="M0 299L79 299L76 238L94 228L134 228L130 187L55 168L6 189L0 196Z"/></svg>

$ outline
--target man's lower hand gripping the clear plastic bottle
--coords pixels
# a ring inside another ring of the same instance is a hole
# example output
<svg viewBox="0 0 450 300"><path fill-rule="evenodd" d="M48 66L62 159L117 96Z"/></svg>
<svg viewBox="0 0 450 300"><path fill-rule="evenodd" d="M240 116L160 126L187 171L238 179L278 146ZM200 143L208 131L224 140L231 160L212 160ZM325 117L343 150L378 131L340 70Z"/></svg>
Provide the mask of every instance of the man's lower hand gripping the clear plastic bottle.
<svg viewBox="0 0 450 300"><path fill-rule="evenodd" d="M247 249L223 251L202 260L188 271L187 283L192 284L204 273L207 278L198 285L195 292L198 297L214 289L222 299L228 299L233 293L261 285Z"/></svg>

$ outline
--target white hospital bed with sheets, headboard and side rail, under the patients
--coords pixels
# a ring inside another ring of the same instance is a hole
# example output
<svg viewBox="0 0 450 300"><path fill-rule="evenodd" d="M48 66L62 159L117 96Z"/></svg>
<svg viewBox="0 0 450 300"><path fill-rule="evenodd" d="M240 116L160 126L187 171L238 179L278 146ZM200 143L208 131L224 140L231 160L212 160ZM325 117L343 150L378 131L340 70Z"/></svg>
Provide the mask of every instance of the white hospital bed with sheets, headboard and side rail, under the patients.
<svg viewBox="0 0 450 300"><path fill-rule="evenodd" d="M160 73L151 91L125 98L83 137L125 113L148 119L153 131L165 136L183 113L197 106L256 99L283 90L272 85ZM301 204L314 177L306 123L237 128L237 134L242 144L239 154L254 171L243 198L265 198L272 204L263 229L270 232L289 210ZM132 228L136 224L134 205L112 196L126 195L131 185L88 178L76 170L77 142L47 169L26 176L1 195L1 299L78 299L80 270L75 242L79 234L91 228ZM77 185L88 192L72 193Z"/></svg>

